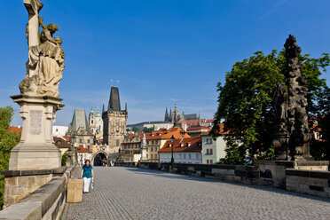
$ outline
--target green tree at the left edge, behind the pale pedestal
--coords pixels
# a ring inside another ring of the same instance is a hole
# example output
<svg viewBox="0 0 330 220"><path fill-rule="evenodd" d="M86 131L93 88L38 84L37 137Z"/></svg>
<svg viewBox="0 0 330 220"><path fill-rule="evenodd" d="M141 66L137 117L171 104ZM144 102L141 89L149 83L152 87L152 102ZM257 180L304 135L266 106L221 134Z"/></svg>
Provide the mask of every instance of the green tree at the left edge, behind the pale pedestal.
<svg viewBox="0 0 330 220"><path fill-rule="evenodd" d="M4 205L4 176L1 173L8 169L12 147L20 141L20 134L9 130L13 114L12 106L0 107L0 208Z"/></svg>

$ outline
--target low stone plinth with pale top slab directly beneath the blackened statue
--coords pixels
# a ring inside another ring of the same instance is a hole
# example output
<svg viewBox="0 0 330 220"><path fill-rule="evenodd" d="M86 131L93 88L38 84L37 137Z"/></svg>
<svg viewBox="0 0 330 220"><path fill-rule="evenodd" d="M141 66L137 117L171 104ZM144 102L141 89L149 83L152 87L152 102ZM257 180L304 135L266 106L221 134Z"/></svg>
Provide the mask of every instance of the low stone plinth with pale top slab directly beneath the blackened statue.
<svg viewBox="0 0 330 220"><path fill-rule="evenodd" d="M329 161L254 161L260 184L286 187L286 169L328 171Z"/></svg>

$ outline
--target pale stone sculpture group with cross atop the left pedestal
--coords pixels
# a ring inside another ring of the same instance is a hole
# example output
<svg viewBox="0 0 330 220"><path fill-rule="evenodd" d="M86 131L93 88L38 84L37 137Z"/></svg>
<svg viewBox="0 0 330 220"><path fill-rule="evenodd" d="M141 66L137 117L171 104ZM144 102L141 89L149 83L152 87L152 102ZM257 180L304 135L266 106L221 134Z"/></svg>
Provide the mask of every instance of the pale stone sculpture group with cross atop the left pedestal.
<svg viewBox="0 0 330 220"><path fill-rule="evenodd" d="M59 97L59 82L65 67L62 40L59 36L53 37L59 27L55 24L47 26L43 24L43 18L37 14L41 8L35 6L43 5L38 0L25 0L24 4L31 5L31 10L28 10L27 7L27 12L29 16L33 16L34 23L29 19L27 24L27 75L20 83L20 93L57 98ZM37 23L35 23L35 16ZM32 26L34 28L31 28ZM39 26L43 27L41 34L39 34ZM37 30L35 31L35 29ZM37 38L37 42L35 38Z"/></svg>

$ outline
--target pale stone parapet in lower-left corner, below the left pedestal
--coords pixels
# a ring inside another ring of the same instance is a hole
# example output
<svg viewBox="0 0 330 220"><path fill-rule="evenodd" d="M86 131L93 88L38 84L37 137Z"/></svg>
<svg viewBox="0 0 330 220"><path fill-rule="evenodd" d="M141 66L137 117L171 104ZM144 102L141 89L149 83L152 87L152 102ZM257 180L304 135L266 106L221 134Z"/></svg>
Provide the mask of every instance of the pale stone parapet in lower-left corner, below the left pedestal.
<svg viewBox="0 0 330 220"><path fill-rule="evenodd" d="M40 178L40 184L42 184L42 181L45 179L43 176L52 178L47 183L39 186L35 191L28 193L24 198L20 198L17 203L0 211L0 220L59 219L66 204L68 179L74 177L76 169L77 166L73 165L61 173L50 171L51 173L47 175L37 176L34 173L34 175L20 176L20 178L6 177L8 178L7 181L12 181L12 185L19 186L16 187L16 189L20 189L21 187L23 192L29 187L28 185L32 183L31 181L36 181ZM25 178L27 182L24 182ZM12 189L14 188L15 187L12 187ZM31 190L33 189L31 188Z"/></svg>

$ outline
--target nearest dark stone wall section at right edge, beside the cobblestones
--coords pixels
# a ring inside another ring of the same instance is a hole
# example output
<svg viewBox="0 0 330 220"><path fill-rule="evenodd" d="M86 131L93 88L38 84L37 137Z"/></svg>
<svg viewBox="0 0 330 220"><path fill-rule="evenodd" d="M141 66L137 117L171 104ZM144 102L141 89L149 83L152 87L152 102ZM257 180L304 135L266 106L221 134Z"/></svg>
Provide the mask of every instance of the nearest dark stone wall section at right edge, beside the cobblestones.
<svg viewBox="0 0 330 220"><path fill-rule="evenodd" d="M330 198L330 172L287 169L287 191Z"/></svg>

